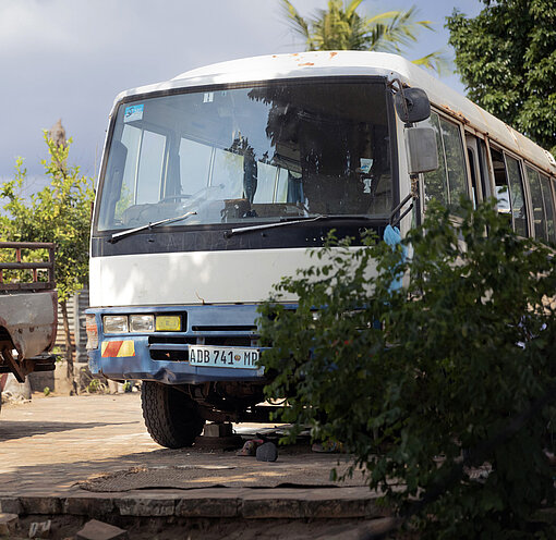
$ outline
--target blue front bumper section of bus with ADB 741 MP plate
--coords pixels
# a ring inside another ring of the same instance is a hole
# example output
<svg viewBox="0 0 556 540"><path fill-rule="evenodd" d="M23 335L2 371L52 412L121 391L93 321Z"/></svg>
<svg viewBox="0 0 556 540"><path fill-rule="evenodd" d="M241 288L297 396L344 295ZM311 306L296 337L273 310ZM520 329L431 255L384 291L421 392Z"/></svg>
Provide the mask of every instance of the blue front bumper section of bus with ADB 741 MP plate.
<svg viewBox="0 0 556 540"><path fill-rule="evenodd" d="M97 346L88 351L89 369L112 380L146 380L166 384L197 384L210 381L264 382L258 361L252 306L184 307L186 327L181 332L105 334L102 317L120 314L165 314L177 308L90 308Z"/></svg>

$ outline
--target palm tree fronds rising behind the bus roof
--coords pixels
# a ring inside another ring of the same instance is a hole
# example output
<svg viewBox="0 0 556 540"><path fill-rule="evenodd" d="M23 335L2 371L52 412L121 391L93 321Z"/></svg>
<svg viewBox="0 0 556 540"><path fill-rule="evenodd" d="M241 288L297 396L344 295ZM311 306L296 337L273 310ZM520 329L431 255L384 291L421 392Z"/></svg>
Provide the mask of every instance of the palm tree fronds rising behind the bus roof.
<svg viewBox="0 0 556 540"><path fill-rule="evenodd" d="M360 15L363 0L328 0L327 10L303 19L289 0L281 0L292 29L303 36L306 50L368 50L400 53L416 41L416 34L433 30L431 21L415 21L415 7L408 11L387 11L374 16ZM432 52L413 63L440 72L446 59Z"/></svg>

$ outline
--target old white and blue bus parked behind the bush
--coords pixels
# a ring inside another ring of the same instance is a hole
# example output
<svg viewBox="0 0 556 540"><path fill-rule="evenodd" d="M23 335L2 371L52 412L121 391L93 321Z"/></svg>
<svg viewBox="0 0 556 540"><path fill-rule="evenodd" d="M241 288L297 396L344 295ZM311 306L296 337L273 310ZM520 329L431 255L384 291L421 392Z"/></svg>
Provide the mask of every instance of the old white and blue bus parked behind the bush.
<svg viewBox="0 0 556 540"><path fill-rule="evenodd" d="M256 57L124 91L92 229L90 370L143 381L168 447L264 420L257 306L330 229L356 245L403 235L433 198L498 195L519 234L556 243L555 180L548 152L392 54Z"/></svg>

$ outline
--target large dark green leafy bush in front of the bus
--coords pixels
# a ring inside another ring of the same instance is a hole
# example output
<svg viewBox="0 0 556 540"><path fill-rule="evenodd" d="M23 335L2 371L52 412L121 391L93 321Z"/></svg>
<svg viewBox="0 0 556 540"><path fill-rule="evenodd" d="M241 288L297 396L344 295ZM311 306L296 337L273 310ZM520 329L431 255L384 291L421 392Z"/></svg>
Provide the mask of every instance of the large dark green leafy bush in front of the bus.
<svg viewBox="0 0 556 540"><path fill-rule="evenodd" d="M554 501L551 250L466 200L462 220L433 209L395 249L347 246L316 251L262 309L266 394L288 398L291 437L343 443L347 474L362 469L419 538L554 538L532 523Z"/></svg>

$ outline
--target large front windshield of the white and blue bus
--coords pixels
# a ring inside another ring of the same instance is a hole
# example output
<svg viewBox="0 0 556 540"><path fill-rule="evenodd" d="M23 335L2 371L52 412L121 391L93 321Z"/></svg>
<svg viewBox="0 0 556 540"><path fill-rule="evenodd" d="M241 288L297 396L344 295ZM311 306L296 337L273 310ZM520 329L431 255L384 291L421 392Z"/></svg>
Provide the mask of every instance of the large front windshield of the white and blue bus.
<svg viewBox="0 0 556 540"><path fill-rule="evenodd" d="M281 81L119 106L97 230L386 217L392 170L384 81Z"/></svg>

